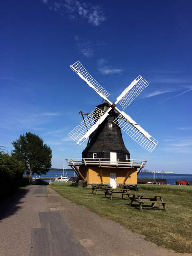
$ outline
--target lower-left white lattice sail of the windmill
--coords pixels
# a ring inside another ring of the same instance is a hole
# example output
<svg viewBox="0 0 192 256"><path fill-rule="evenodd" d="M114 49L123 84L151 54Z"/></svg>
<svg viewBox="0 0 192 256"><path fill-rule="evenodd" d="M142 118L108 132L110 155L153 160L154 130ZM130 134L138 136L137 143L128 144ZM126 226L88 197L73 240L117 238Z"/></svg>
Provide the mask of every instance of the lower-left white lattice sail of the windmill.
<svg viewBox="0 0 192 256"><path fill-rule="evenodd" d="M78 124L70 133L69 136L73 139L78 145L81 145L87 137L90 135L91 130L96 130L96 128L103 122L102 116L109 115L105 113L100 108L96 107L87 117Z"/></svg>

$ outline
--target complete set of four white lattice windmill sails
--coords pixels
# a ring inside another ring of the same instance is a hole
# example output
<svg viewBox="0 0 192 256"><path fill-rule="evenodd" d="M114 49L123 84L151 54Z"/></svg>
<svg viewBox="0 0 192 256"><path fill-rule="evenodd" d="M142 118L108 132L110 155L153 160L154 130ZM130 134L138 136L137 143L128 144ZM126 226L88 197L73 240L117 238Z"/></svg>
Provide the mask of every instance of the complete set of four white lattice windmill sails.
<svg viewBox="0 0 192 256"><path fill-rule="evenodd" d="M98 93L104 100L106 100L110 106L112 102L107 98L110 94L103 88L84 68L81 62L77 61L70 68L75 71L81 79L83 79L88 86L93 88L96 93ZM148 82L139 75L131 84L125 88L125 90L117 97L115 105L119 102L123 109L127 108L129 104L148 86ZM97 108L96 108L97 109ZM95 109L95 110L96 110ZM120 115L114 120L114 123L117 124L124 132L126 132L134 141L136 141L144 149L152 152L157 146L158 141L156 141L148 132L146 132L139 124L137 124L129 115L125 112L120 111L117 107L115 109L120 113ZM77 144L82 144L90 134L96 130L96 128L101 124L107 117L108 112L111 110L111 107L107 112L104 112L100 119L91 127L88 125L87 120L90 123L90 118L95 110L87 116L77 127L75 127L70 133L70 137L76 141ZM99 109L99 111L102 111ZM103 111L102 111L103 112ZM94 117L93 117L94 119ZM122 124L123 120L123 124ZM84 128L83 128L84 127ZM86 132L87 131L87 132Z"/></svg>

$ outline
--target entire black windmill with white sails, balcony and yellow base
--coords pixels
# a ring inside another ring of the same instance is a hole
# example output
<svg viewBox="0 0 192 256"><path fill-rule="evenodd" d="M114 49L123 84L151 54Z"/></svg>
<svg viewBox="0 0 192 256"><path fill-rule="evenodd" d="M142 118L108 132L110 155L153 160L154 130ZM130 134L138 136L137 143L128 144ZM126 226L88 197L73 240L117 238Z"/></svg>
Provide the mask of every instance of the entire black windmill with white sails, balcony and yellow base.
<svg viewBox="0 0 192 256"><path fill-rule="evenodd" d="M149 152L154 150L158 142L116 105L119 103L124 110L148 86L148 82L139 75L112 103L108 99L110 94L96 82L81 62L75 62L70 68L105 102L91 113L80 112L83 121L69 135L78 145L88 137L89 140L82 152L82 159L66 159L68 164L88 184L110 183L114 188L118 184L137 184L137 168L143 168L146 161L130 159L121 129ZM87 115L86 118L84 115Z"/></svg>

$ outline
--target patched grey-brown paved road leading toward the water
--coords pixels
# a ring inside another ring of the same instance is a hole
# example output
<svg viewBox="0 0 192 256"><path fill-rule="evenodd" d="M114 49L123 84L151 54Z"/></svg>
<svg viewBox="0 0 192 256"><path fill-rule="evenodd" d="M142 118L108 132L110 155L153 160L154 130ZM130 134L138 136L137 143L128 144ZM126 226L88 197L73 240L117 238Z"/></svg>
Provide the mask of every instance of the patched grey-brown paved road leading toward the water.
<svg viewBox="0 0 192 256"><path fill-rule="evenodd" d="M88 255L179 254L71 203L47 186L26 188L0 208L0 256Z"/></svg>

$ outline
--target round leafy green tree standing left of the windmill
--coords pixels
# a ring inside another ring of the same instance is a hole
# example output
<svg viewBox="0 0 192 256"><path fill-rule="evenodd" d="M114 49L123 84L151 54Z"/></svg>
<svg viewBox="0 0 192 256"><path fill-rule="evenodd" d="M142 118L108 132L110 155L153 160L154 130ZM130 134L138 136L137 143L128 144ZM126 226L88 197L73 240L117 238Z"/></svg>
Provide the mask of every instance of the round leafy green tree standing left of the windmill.
<svg viewBox="0 0 192 256"><path fill-rule="evenodd" d="M34 174L46 174L52 167L52 150L43 144L43 140L38 135L26 132L13 141L12 145L15 149L11 154L24 164L29 181Z"/></svg>

